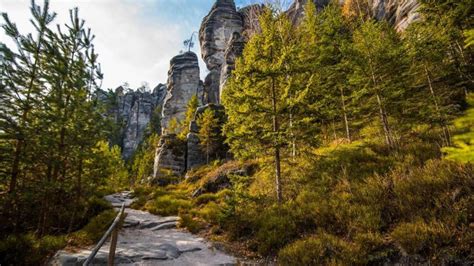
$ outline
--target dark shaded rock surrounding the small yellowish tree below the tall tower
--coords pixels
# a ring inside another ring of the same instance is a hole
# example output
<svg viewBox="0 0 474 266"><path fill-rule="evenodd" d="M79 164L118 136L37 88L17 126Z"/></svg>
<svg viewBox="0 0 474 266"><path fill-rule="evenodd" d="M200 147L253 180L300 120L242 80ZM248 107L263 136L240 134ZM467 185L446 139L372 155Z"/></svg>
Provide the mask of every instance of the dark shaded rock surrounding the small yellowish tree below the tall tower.
<svg viewBox="0 0 474 266"><path fill-rule="evenodd" d="M222 137L222 127L226 121L224 107L212 103L201 106L196 110L195 119L191 122L189 126L190 132L187 135L187 170L191 170L207 163L207 154L199 139L199 125L197 120L208 109L213 111L214 117L218 118L219 121L216 132L214 132L216 137L212 139L212 143L209 145L209 159L225 159L226 153L229 149L227 145L224 144L224 139Z"/></svg>

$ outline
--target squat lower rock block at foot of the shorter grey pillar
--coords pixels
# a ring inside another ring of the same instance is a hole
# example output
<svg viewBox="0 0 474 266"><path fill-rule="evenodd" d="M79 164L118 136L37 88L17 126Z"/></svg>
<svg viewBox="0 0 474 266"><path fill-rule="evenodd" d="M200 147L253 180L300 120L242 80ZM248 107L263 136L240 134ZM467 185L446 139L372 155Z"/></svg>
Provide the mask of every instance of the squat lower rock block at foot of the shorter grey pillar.
<svg viewBox="0 0 474 266"><path fill-rule="evenodd" d="M181 176L186 171L186 143L175 134L162 135L156 148L153 179L150 183L160 184L163 177Z"/></svg>

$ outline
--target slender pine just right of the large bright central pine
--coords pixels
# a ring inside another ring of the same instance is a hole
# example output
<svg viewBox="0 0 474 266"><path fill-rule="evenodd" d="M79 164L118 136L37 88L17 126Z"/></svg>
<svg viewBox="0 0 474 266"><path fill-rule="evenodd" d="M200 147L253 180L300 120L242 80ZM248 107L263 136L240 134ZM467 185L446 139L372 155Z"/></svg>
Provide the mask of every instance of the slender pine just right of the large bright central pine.
<svg viewBox="0 0 474 266"><path fill-rule="evenodd" d="M300 61L306 68L302 84L310 86L308 95L313 102L299 104L313 106L313 115L322 124L334 126L335 121L341 121L345 136L350 141L350 91L346 74L349 71L344 59L351 36L340 6L331 4L317 13L314 4L308 2L300 34Z"/></svg>

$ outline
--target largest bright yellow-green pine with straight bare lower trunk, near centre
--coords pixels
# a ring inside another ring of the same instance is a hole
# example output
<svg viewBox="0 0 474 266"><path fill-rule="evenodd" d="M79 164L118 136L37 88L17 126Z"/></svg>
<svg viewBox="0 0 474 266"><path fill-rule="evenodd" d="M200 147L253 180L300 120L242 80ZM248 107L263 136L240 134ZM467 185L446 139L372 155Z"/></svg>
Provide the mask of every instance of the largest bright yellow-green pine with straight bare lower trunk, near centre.
<svg viewBox="0 0 474 266"><path fill-rule="evenodd" d="M237 61L223 92L229 118L224 131L238 157L271 154L281 203L282 151L292 140L288 110L288 69L294 56L292 27L284 14L269 9L260 17L260 25L261 33L245 46L243 58Z"/></svg>

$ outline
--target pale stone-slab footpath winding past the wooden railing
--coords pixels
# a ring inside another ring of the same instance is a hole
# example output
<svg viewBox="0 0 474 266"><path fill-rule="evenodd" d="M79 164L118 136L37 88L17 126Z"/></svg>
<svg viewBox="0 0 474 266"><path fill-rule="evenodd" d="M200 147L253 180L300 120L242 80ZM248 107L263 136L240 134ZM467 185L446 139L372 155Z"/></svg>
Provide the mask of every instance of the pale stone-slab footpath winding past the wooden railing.
<svg viewBox="0 0 474 266"><path fill-rule="evenodd" d="M148 212L130 209L130 192L105 197L119 208L125 203L125 218L119 233L116 265L236 265L237 259L228 255L203 238L176 229L178 217L160 217ZM92 247L91 247L92 249ZM109 243L97 253L93 265L107 265ZM49 265L82 265L90 249L74 253L59 251Z"/></svg>

